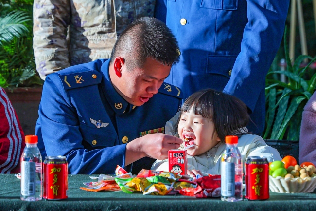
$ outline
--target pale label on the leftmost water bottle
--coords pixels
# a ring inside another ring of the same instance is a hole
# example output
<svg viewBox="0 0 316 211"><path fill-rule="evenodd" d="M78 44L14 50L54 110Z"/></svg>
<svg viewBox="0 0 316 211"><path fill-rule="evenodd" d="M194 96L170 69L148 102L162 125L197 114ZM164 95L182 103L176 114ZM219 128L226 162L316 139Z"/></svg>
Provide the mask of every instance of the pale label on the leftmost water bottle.
<svg viewBox="0 0 316 211"><path fill-rule="evenodd" d="M35 195L36 165L35 162L21 162L21 195Z"/></svg>

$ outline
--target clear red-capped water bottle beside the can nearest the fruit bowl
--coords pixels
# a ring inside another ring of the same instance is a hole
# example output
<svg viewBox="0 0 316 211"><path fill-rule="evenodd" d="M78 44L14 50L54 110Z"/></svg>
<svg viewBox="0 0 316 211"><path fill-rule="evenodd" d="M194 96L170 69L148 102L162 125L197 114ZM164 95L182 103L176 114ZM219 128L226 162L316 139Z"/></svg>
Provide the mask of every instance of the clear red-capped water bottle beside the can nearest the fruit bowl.
<svg viewBox="0 0 316 211"><path fill-rule="evenodd" d="M226 148L221 157L221 200L243 200L243 164L237 148L238 137L225 137Z"/></svg>

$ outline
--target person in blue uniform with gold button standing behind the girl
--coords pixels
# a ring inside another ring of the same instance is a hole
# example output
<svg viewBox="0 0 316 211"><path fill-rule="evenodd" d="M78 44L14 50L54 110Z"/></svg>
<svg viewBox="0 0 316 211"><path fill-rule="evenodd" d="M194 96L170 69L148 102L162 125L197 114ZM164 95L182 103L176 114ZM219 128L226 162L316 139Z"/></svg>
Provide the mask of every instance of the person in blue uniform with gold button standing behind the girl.
<svg viewBox="0 0 316 211"><path fill-rule="evenodd" d="M212 88L247 105L248 130L261 134L265 76L279 49L289 0L157 0L155 16L166 22L180 47L180 62L165 80L184 99Z"/></svg>

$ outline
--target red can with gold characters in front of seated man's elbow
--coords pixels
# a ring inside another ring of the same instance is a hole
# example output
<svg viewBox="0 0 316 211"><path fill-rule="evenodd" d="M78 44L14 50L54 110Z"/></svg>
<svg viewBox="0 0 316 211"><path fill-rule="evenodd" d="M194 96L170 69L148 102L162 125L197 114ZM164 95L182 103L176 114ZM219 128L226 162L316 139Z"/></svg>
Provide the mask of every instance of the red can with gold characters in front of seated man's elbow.
<svg viewBox="0 0 316 211"><path fill-rule="evenodd" d="M43 198L48 200L68 198L68 162L66 157L45 157L43 170Z"/></svg>

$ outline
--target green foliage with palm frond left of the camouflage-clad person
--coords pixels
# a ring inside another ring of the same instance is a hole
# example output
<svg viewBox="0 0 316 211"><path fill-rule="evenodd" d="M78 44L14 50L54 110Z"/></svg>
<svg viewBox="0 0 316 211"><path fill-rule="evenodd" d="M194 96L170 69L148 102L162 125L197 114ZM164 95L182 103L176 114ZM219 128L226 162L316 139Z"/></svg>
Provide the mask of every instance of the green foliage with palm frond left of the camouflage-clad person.
<svg viewBox="0 0 316 211"><path fill-rule="evenodd" d="M0 2L0 86L34 87L43 81L32 48L33 0Z"/></svg>

